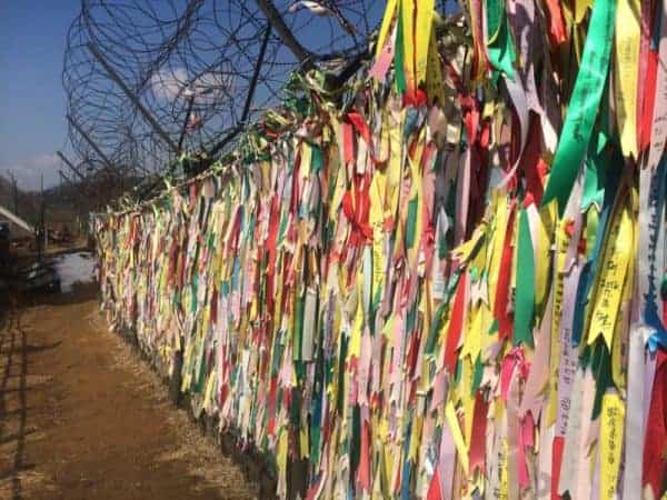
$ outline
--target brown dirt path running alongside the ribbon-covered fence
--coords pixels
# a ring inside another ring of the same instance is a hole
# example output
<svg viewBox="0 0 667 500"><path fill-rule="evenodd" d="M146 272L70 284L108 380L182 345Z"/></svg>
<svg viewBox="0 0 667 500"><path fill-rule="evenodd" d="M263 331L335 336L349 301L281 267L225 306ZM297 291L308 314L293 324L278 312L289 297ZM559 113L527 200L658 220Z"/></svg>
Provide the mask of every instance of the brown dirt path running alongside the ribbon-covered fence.
<svg viewBox="0 0 667 500"><path fill-rule="evenodd" d="M256 498L92 297L0 312L0 499Z"/></svg>

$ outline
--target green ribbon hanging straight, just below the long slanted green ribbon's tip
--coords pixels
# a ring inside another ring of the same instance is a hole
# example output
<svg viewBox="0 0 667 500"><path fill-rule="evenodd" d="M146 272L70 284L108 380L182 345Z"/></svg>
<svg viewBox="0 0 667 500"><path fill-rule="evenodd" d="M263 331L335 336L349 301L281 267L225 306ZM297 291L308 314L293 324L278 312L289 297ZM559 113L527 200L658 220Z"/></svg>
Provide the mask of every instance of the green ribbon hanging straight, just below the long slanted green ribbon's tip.
<svg viewBox="0 0 667 500"><path fill-rule="evenodd" d="M528 212L519 216L519 242L517 249L517 291L515 307L514 344L524 342L532 346L532 313L535 310L535 257Z"/></svg>

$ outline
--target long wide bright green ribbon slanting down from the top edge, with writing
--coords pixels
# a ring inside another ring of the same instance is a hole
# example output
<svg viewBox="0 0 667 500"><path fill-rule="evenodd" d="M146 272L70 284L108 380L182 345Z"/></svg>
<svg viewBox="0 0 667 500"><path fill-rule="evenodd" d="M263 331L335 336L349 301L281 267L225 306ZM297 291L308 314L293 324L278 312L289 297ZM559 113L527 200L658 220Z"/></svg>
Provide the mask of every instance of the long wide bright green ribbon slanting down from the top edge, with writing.
<svg viewBox="0 0 667 500"><path fill-rule="evenodd" d="M609 69L616 2L596 0L588 36L584 46L581 67L569 102L565 124L547 182L542 207L556 199L563 216L565 206L588 148L593 126Z"/></svg>

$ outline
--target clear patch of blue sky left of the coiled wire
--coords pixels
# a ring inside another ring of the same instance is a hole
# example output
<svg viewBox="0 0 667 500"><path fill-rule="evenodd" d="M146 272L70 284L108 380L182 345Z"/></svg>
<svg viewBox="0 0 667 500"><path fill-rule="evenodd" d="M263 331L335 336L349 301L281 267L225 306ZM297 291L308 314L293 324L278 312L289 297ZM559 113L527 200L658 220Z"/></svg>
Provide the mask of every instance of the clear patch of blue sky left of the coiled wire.
<svg viewBox="0 0 667 500"><path fill-rule="evenodd" d="M0 174L23 189L58 182L66 139L60 76L79 0L0 0Z"/></svg>

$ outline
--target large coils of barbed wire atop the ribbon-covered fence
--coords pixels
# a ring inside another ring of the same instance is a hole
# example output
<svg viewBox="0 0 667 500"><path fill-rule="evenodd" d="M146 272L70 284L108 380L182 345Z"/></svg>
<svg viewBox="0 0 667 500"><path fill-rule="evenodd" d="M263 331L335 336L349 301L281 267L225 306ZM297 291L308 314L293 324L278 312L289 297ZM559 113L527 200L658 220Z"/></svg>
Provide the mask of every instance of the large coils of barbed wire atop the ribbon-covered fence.
<svg viewBox="0 0 667 500"><path fill-rule="evenodd" d="M303 61L261 3L82 0L67 37L62 83L70 150L86 172L162 172L181 151L222 150L276 106ZM381 0L263 3L315 63L367 51L385 9Z"/></svg>

